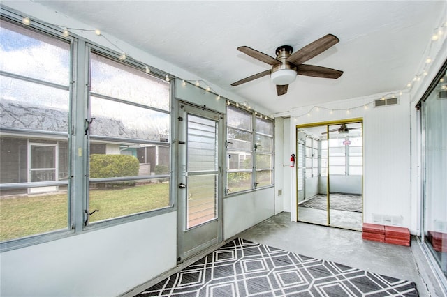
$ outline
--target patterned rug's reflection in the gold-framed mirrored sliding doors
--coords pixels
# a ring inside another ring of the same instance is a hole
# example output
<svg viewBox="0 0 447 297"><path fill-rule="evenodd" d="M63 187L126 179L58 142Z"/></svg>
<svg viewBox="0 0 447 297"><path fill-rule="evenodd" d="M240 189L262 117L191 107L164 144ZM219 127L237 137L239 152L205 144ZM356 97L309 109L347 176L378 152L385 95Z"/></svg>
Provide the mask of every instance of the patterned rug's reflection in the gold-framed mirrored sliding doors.
<svg viewBox="0 0 447 297"><path fill-rule="evenodd" d="M300 207L328 209L327 195L316 195L311 199L300 203ZM330 209L336 209L337 211L354 211L356 213L362 212L362 195L353 194L330 194Z"/></svg>

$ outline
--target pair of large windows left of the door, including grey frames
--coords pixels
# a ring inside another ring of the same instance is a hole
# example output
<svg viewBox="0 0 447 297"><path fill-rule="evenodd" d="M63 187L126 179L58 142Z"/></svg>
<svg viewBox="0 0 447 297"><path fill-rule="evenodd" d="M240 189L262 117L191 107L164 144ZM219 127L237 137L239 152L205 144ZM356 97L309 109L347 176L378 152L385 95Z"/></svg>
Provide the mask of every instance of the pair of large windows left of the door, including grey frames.
<svg viewBox="0 0 447 297"><path fill-rule="evenodd" d="M2 250L170 211L166 74L2 17Z"/></svg>

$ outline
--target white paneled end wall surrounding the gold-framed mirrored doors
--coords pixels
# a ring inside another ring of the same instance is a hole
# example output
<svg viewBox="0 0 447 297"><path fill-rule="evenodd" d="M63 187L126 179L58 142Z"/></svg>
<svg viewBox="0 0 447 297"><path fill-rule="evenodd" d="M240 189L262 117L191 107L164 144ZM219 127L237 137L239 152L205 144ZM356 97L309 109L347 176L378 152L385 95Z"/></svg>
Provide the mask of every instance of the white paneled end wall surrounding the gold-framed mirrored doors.
<svg viewBox="0 0 447 297"><path fill-rule="evenodd" d="M417 214L415 209L411 209L412 199L416 199L416 197L411 197L410 190L409 94L402 94L398 105L373 107L372 104L369 104L383 95L385 94L332 102L321 105L318 109L312 106L293 109L291 111L289 148L292 153L296 154L296 125L362 118L364 222L372 222L373 215L400 218L402 226L409 227L412 233L416 233L414 229L416 223L413 221L416 220ZM367 105L366 108L365 105ZM334 110L331 112L331 109ZM286 135L286 131L284 131L284 135ZM286 180L291 183L291 219L295 220L295 172L284 172L284 181Z"/></svg>

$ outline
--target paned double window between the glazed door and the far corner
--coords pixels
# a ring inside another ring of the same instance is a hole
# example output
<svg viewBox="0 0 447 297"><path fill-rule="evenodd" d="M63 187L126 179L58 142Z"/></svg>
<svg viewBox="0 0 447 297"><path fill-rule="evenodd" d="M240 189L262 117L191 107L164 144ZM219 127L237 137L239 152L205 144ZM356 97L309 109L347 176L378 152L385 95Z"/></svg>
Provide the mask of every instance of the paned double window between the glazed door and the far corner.
<svg viewBox="0 0 447 297"><path fill-rule="evenodd" d="M272 121L228 105L227 194L272 185L273 143Z"/></svg>

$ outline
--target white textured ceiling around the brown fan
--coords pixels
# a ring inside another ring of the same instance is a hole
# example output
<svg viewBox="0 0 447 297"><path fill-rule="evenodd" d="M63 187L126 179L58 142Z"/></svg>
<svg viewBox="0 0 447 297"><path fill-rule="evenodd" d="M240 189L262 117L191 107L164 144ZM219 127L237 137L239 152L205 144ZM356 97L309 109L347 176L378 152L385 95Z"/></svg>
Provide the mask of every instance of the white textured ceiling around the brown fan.
<svg viewBox="0 0 447 297"><path fill-rule="evenodd" d="M446 15L446 1L34 2L272 113L403 89L417 73L433 29ZM270 68L237 47L247 45L275 56L280 45L299 50L327 33L340 42L307 63L343 70L339 79L299 75L285 96L276 95L268 76L230 86Z"/></svg>

